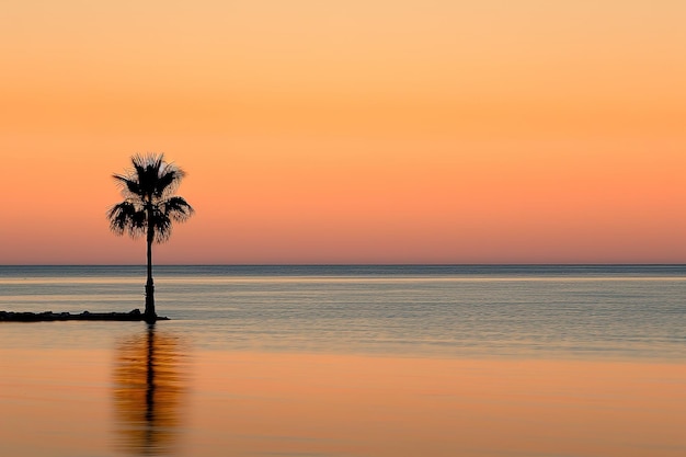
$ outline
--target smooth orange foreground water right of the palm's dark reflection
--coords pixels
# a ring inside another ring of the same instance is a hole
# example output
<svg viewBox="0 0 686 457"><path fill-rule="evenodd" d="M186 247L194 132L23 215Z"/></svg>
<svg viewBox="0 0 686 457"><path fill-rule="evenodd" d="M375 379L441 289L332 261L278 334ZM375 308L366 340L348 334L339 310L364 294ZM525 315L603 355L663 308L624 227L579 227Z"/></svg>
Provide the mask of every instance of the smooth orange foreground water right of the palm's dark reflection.
<svg viewBox="0 0 686 457"><path fill-rule="evenodd" d="M686 455L677 363L238 352L197 362L194 457Z"/></svg>

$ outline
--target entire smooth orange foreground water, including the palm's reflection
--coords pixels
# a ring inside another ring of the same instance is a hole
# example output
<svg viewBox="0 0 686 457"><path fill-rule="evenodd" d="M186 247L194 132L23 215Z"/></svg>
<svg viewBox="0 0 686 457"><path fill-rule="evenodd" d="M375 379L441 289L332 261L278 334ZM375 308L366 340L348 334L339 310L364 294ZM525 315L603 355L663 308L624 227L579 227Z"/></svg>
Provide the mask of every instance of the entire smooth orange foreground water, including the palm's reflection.
<svg viewBox="0 0 686 457"><path fill-rule="evenodd" d="M191 359L163 329L118 340L114 366L99 349L0 346L0 456L686 455L683 362Z"/></svg>

